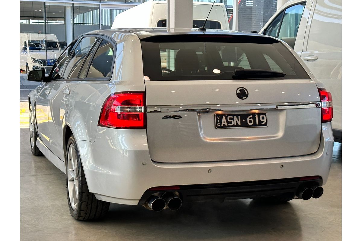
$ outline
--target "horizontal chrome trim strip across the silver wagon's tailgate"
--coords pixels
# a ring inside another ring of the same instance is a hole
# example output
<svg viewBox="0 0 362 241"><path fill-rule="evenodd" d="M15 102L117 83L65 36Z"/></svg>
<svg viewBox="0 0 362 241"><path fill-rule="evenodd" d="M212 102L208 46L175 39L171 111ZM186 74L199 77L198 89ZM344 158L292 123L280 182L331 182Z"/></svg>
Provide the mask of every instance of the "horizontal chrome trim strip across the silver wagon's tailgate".
<svg viewBox="0 0 362 241"><path fill-rule="evenodd" d="M217 105L175 105L147 106L147 112L215 112L215 111L251 111L259 109L305 109L320 108L320 102L265 103L265 104L217 104Z"/></svg>

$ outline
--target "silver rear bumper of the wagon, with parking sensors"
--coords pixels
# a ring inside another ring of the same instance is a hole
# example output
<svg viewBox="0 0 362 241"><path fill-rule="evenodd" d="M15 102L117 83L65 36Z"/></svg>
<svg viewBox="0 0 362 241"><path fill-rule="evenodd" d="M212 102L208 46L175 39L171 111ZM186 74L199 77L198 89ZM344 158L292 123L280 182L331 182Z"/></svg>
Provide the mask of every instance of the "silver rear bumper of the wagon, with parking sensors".
<svg viewBox="0 0 362 241"><path fill-rule="evenodd" d="M202 163L152 162L146 130L98 127L94 142L77 140L77 145L89 191L100 200L137 205L148 189L157 186L305 176L320 176L324 185L331 167L333 134L331 123L323 123L319 148L310 155Z"/></svg>

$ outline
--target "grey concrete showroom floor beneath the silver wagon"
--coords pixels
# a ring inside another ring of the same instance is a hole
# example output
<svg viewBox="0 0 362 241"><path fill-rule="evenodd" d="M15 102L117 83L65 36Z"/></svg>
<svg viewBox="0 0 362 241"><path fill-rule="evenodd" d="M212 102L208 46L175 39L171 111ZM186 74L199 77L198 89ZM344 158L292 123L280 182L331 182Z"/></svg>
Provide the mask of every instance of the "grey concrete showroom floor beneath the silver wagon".
<svg viewBox="0 0 362 241"><path fill-rule="evenodd" d="M25 125L23 125L25 127ZM341 240L341 145L324 195L266 205L251 199L184 205L153 212L111 204L100 221L76 221L68 210L66 176L43 156L33 156L28 128L20 129L21 240Z"/></svg>

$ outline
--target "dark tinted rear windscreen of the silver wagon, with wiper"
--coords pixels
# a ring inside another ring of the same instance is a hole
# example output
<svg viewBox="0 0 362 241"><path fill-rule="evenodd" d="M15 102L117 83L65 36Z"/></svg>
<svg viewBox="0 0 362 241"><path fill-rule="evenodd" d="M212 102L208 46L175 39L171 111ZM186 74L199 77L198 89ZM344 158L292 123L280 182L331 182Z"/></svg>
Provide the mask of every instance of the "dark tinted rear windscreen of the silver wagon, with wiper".
<svg viewBox="0 0 362 241"><path fill-rule="evenodd" d="M233 79L235 69L285 74L266 79L310 79L292 53L271 38L164 35L143 39L141 45L144 75L151 81Z"/></svg>

